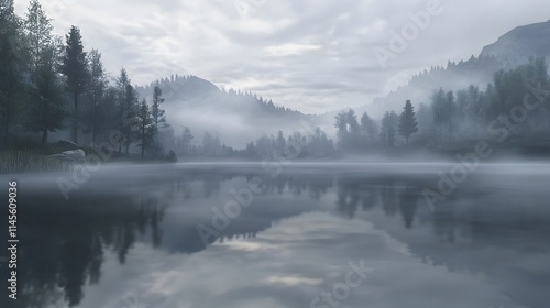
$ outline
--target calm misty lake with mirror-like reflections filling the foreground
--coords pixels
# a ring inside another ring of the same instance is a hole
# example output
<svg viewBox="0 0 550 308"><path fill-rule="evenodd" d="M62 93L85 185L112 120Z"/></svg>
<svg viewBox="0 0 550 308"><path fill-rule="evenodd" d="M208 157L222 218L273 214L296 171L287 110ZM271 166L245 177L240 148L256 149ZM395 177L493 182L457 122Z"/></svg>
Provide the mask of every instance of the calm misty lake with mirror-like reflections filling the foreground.
<svg viewBox="0 0 550 308"><path fill-rule="evenodd" d="M3 200L13 179L2 307L550 302L550 164L113 164L1 176Z"/></svg>

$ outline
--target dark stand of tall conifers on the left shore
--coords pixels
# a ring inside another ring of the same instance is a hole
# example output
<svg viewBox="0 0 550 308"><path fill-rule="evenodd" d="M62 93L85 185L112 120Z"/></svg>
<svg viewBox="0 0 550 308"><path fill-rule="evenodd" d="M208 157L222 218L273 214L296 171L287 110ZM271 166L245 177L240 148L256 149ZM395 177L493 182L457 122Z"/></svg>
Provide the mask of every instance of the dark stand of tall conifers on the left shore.
<svg viewBox="0 0 550 308"><path fill-rule="evenodd" d="M124 68L116 78L103 68L97 50L85 51L79 28L65 40L53 34L52 20L38 0L24 16L13 0L0 0L0 131L1 147L18 147L40 136L45 145L53 132L68 129L70 140L92 147L109 142L117 131L131 145L157 153L156 135L166 127L163 92L153 87L152 102L140 100Z"/></svg>

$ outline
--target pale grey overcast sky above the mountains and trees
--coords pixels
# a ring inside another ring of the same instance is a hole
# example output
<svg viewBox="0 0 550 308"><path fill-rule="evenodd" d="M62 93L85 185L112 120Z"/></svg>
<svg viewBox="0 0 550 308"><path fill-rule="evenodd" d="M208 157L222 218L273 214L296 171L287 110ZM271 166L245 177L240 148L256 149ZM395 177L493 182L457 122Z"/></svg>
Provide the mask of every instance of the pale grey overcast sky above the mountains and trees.
<svg viewBox="0 0 550 308"><path fill-rule="evenodd" d="M196 75L315 113L370 103L424 68L468 59L517 25L550 19L541 0L42 2L56 34L79 26L112 75L124 66L138 85ZM15 0L18 13L28 4ZM429 21L410 26L418 13ZM392 33L404 31L406 44L381 65L375 50L389 51Z"/></svg>

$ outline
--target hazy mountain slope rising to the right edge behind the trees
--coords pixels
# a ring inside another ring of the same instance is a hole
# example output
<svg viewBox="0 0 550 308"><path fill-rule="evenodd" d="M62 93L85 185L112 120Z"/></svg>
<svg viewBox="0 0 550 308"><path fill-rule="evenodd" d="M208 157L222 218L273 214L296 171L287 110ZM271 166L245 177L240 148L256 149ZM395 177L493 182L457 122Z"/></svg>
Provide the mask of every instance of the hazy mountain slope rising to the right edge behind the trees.
<svg viewBox="0 0 550 308"><path fill-rule="evenodd" d="M530 57L546 57L550 63L550 21L518 26L483 48L480 56L460 63L449 62L447 67L432 67L414 76L407 85L374 99L372 105L356 108L356 113L369 112L381 119L385 111L400 112L410 99L418 107L429 103L433 90L458 90L470 85L485 89L501 69L513 69L529 62ZM336 112L330 116L333 117Z"/></svg>

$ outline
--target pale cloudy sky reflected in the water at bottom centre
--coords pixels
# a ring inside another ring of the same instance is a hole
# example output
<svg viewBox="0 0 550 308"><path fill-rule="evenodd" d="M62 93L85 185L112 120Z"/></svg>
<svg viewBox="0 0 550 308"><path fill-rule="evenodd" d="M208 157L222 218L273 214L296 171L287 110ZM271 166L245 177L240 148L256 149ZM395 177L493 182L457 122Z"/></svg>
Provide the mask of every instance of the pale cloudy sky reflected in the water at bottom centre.
<svg viewBox="0 0 550 308"><path fill-rule="evenodd" d="M463 308L510 302L483 277L424 264L404 254L406 245L388 237L363 220L312 212L285 219L254 239L217 243L191 255L140 244L125 266L105 271L100 285L87 290L81 307L112 307L95 304L100 302L98 297L131 290L161 308L308 307L320 292L344 279L350 261L362 258L375 272L352 290L344 307L411 307L414 302Z"/></svg>

